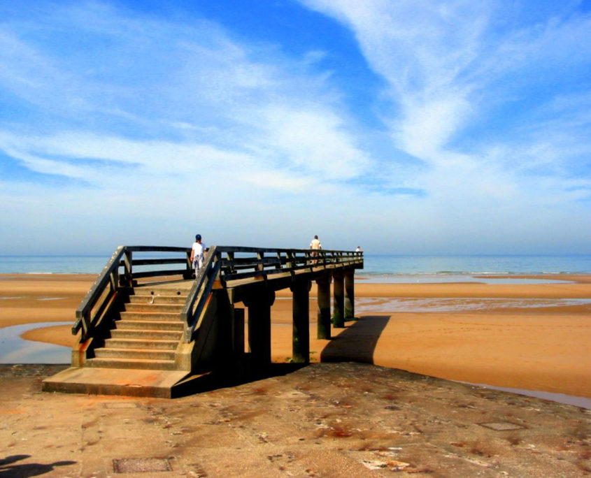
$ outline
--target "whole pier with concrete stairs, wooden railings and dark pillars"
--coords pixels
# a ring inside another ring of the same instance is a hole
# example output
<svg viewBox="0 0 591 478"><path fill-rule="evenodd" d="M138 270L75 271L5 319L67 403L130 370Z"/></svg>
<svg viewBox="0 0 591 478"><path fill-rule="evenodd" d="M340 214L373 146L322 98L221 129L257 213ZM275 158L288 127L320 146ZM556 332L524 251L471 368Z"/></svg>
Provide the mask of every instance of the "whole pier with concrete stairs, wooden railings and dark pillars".
<svg viewBox="0 0 591 478"><path fill-rule="evenodd" d="M292 291L292 361L308 363L312 281L318 338L355 317L362 252L213 246L195 278L189 258L185 247L118 247L76 310L71 368L43 390L172 397L191 377L264 370L280 289Z"/></svg>

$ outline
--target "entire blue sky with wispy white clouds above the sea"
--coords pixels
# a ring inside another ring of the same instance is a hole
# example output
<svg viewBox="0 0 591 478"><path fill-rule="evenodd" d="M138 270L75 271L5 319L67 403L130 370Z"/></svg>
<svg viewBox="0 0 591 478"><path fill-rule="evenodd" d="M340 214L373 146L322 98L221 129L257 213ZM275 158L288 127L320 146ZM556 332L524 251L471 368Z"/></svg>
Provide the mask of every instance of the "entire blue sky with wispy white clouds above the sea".
<svg viewBox="0 0 591 478"><path fill-rule="evenodd" d="M508 3L2 1L0 254L590 253L591 2Z"/></svg>

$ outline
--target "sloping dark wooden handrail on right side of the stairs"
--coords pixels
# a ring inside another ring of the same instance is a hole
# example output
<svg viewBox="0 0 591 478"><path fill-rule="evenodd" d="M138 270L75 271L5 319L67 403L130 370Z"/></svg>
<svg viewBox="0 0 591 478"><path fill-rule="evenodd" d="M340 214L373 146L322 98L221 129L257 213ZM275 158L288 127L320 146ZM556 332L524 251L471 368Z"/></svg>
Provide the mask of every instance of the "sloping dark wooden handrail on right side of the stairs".
<svg viewBox="0 0 591 478"><path fill-rule="evenodd" d="M191 342L194 331L199 325L199 318L205 310L213 283L218 277L221 267L222 260L218 246L209 247L203 265L199 268L199 273L187 295L183 310L180 312L180 318L185 324L184 340L187 343Z"/></svg>

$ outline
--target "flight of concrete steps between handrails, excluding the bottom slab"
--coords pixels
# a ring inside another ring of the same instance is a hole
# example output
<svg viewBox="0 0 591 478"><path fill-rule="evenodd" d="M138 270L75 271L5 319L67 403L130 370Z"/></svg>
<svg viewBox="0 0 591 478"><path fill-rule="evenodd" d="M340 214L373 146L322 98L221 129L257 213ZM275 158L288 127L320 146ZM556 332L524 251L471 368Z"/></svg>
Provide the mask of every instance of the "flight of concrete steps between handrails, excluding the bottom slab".
<svg viewBox="0 0 591 478"><path fill-rule="evenodd" d="M187 291L135 287L115 321L111 338L94 350L86 365L99 368L176 370L176 348L183 336Z"/></svg>

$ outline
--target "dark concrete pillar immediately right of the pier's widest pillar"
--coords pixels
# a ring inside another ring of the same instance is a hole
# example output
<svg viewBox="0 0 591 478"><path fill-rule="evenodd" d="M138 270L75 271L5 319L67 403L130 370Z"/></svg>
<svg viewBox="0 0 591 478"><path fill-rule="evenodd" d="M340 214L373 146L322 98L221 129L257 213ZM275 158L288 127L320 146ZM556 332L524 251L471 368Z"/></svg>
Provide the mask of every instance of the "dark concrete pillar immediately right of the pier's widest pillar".
<svg viewBox="0 0 591 478"><path fill-rule="evenodd" d="M292 361L310 363L310 287L309 280L297 280L290 287L293 300Z"/></svg>

